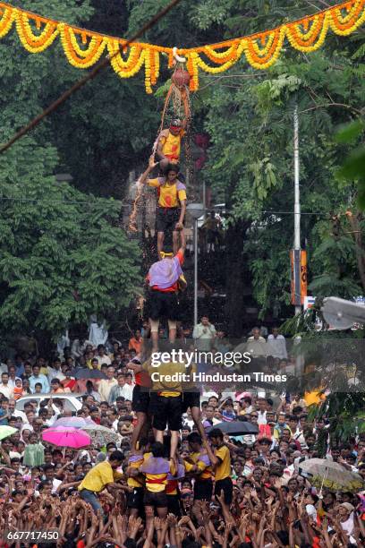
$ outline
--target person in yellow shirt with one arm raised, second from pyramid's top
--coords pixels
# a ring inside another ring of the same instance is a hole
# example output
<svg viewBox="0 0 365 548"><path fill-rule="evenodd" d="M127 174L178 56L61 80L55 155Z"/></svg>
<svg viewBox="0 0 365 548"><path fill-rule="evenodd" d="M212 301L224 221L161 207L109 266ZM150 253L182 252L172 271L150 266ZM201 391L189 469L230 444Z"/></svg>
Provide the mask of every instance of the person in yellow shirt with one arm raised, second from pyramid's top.
<svg viewBox="0 0 365 548"><path fill-rule="evenodd" d="M145 184L149 173L157 166L157 162L151 156L149 167L140 177L140 184ZM148 185L158 189L158 205L156 213L157 228L157 253L162 257L161 252L164 245L166 233L173 232L174 253L179 249L179 232L183 240L183 219L186 211L186 187L178 180L179 167L176 164L169 164L166 168L166 176L156 177L148 180Z"/></svg>

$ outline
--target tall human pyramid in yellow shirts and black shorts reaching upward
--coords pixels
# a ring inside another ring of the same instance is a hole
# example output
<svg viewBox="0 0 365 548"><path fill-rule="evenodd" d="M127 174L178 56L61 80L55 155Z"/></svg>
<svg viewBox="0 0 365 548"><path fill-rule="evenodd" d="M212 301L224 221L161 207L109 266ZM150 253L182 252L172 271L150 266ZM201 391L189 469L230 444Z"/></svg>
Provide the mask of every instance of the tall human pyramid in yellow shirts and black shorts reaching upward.
<svg viewBox="0 0 365 548"><path fill-rule="evenodd" d="M149 521L157 514L166 518L168 513L181 516L179 481L185 475L194 478L194 515L202 521L201 504L210 503L215 488L216 496L223 497L230 505L233 497L230 451L224 435L219 430L209 434L201 422L200 393L191 381L186 381L196 364L189 368L184 363L169 361L158 366L158 380L153 373L150 355L159 350L158 328L162 319L168 322L167 350L176 343L177 321L179 321L179 294L186 287L183 276L185 234L183 222L186 212L186 186L180 169L182 140L190 121L188 90L180 89L183 99L184 119L174 118L168 129L157 137L156 154L149 158L149 167L140 177L140 184L157 188L157 261L149 268L146 282L149 287L149 334L152 347L148 351L147 338L141 355L128 364L134 372L132 409L137 415L137 424L132 433L132 455L128 461L126 475L131 492L127 496L127 507L134 517L146 516ZM150 174L158 170L157 176ZM174 373L185 375L185 381L165 381ZM191 455L179 456L182 415L191 410L196 431L188 441ZM168 434L166 435L166 429ZM153 432L153 433L152 433ZM118 451L109 458L114 470L122 465ZM105 463L98 467L105 467ZM89 472L95 475L98 467ZM117 478L114 473L114 481ZM214 481L215 480L215 481ZM101 509L97 496L89 489L88 475L79 487L81 497L89 501L94 509Z"/></svg>

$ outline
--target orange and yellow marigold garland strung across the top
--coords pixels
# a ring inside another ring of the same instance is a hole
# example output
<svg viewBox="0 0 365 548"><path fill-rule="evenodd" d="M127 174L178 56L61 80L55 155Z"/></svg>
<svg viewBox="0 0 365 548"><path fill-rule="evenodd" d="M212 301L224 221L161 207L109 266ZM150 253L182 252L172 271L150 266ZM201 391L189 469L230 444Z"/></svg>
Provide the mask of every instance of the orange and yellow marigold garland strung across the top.
<svg viewBox="0 0 365 548"><path fill-rule="evenodd" d="M284 47L285 39L303 53L323 46L328 30L339 36L348 36L365 21L365 0L348 0L322 12L284 23L276 29L265 30L247 37L225 40L218 44L177 49L187 61L191 91L199 89L199 70L209 74L224 73L244 54L247 62L256 69L267 69L276 63ZM76 68L86 69L98 63L107 53L110 63L121 78L132 78L145 67L145 87L152 93L160 72L160 55L168 58L173 66L172 47L136 43L125 47L126 40L72 27L30 13L9 4L0 3L0 39L4 38L15 23L21 45L30 53L41 53L59 36L68 62Z"/></svg>

